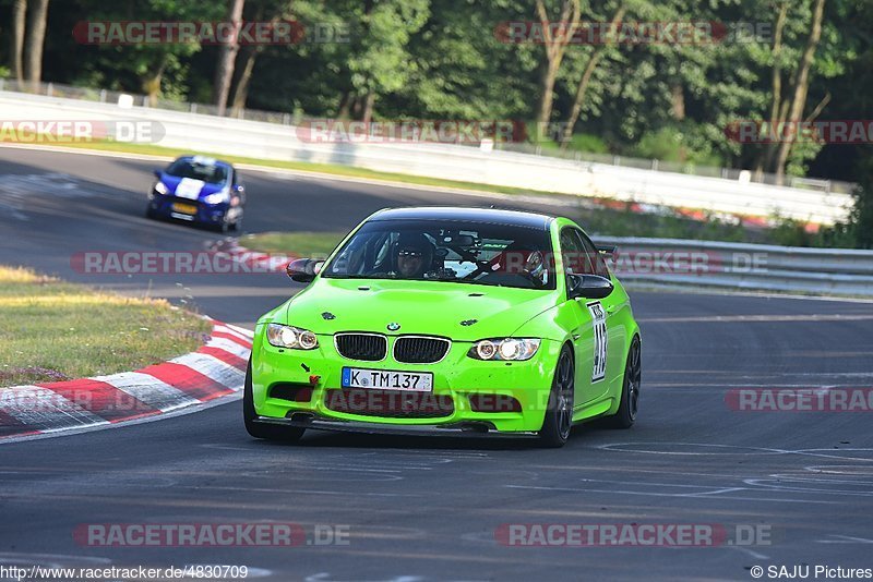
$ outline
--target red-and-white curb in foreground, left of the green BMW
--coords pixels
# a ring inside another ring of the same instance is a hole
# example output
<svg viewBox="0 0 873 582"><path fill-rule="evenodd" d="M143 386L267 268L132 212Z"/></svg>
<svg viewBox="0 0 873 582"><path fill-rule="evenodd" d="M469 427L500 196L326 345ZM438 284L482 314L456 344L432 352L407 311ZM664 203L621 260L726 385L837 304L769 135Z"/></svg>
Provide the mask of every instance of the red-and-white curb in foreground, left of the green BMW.
<svg viewBox="0 0 873 582"><path fill-rule="evenodd" d="M0 441L110 425L208 402L246 380L252 332L211 319L196 352L136 372L0 388Z"/></svg>

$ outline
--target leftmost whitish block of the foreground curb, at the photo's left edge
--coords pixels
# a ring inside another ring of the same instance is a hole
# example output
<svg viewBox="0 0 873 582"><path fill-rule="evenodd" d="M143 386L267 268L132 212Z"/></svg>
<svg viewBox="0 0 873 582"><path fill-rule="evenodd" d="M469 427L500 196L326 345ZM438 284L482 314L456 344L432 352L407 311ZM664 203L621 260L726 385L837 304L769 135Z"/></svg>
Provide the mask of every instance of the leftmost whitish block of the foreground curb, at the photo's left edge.
<svg viewBox="0 0 873 582"><path fill-rule="evenodd" d="M14 386L0 390L0 410L28 429L53 432L108 421L61 395L40 386Z"/></svg>

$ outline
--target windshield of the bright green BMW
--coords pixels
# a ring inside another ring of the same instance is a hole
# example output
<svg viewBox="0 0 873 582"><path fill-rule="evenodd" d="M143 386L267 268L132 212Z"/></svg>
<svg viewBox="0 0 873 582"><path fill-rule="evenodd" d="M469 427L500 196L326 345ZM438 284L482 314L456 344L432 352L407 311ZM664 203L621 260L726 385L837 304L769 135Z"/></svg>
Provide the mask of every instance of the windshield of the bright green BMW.
<svg viewBox="0 0 873 582"><path fill-rule="evenodd" d="M323 269L331 279L398 279L554 289L549 232L454 220L372 220Z"/></svg>

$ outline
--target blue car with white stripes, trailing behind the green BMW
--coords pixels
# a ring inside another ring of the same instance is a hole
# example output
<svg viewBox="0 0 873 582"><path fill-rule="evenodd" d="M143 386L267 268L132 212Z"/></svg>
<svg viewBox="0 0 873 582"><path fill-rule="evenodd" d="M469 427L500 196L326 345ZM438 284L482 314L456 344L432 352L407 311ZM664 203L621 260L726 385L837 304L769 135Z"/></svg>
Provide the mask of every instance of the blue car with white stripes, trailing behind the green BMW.
<svg viewBox="0 0 873 582"><path fill-rule="evenodd" d="M176 218L219 229L242 230L246 189L230 163L183 156L164 170L148 193L148 218Z"/></svg>

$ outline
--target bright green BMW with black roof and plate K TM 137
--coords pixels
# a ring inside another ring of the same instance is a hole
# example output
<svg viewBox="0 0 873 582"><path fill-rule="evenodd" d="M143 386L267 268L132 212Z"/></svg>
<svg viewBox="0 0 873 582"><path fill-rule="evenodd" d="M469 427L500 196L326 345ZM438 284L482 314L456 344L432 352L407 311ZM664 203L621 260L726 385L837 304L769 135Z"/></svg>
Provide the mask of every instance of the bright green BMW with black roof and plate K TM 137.
<svg viewBox="0 0 873 582"><path fill-rule="evenodd" d="M485 208L380 210L255 326L243 392L256 438L307 428L536 437L627 428L641 336L622 284L572 220Z"/></svg>

